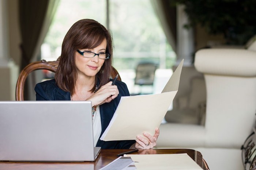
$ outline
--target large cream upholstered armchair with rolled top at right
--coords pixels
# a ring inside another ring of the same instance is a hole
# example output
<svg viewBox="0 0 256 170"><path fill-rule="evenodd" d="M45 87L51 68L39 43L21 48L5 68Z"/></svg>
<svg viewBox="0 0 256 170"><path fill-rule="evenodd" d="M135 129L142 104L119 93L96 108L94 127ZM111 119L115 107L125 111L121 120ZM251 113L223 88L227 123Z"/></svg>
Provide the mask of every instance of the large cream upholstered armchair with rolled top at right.
<svg viewBox="0 0 256 170"><path fill-rule="evenodd" d="M157 148L192 148L211 170L242 170L241 145L256 113L256 51L203 49L196 69L206 81L205 125L161 124Z"/></svg>

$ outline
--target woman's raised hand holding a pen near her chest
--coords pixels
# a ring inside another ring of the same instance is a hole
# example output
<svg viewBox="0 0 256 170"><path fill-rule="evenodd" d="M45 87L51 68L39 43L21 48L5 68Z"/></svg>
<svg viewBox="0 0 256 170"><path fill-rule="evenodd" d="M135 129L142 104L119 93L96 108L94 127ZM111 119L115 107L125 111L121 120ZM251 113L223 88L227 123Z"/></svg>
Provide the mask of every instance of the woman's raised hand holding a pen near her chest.
<svg viewBox="0 0 256 170"><path fill-rule="evenodd" d="M101 105L103 103L109 103L117 97L119 91L116 85L112 85L112 81L101 86L91 97L87 98L87 101L91 101L92 106Z"/></svg>

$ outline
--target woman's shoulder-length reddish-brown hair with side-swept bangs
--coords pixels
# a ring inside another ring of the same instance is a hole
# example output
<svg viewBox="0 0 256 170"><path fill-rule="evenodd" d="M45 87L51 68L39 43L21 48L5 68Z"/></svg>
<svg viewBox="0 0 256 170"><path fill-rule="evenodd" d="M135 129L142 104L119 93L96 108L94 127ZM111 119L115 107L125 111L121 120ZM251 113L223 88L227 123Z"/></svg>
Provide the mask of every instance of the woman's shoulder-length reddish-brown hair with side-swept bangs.
<svg viewBox="0 0 256 170"><path fill-rule="evenodd" d="M113 56L112 36L102 24L92 19L82 19L72 25L64 37L60 63L55 74L56 84L59 88L71 94L74 93L77 80L76 50L93 49L99 46L105 38L107 40L106 53L110 54L110 58L105 60L101 70L96 74L95 84L91 91L95 89L97 79L100 82L98 88L109 81Z"/></svg>

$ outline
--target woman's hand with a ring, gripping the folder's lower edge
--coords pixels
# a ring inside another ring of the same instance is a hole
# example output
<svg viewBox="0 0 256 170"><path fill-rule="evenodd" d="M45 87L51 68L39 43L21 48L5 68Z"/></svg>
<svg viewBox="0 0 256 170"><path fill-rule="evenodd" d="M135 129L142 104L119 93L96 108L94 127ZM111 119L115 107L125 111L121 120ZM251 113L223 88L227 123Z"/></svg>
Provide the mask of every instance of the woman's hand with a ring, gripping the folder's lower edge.
<svg viewBox="0 0 256 170"><path fill-rule="evenodd" d="M142 136L137 136L137 140L135 143L136 149L150 149L157 145L157 139L159 136L159 128L155 129L155 135L152 136L146 132L143 133Z"/></svg>

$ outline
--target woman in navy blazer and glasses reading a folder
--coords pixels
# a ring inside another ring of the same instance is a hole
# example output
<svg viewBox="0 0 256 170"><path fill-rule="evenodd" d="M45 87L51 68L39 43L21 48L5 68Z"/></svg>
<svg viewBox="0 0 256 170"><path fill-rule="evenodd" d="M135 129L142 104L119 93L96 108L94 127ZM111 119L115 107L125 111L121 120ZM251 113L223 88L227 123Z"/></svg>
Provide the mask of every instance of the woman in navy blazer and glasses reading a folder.
<svg viewBox="0 0 256 170"><path fill-rule="evenodd" d="M112 85L112 36L100 23L91 19L76 22L67 32L55 79L35 86L36 100L91 101L94 145L102 149L153 148L159 135L144 133L137 140L102 141L121 96L129 96L124 82ZM72 113L71 113L72 114Z"/></svg>

